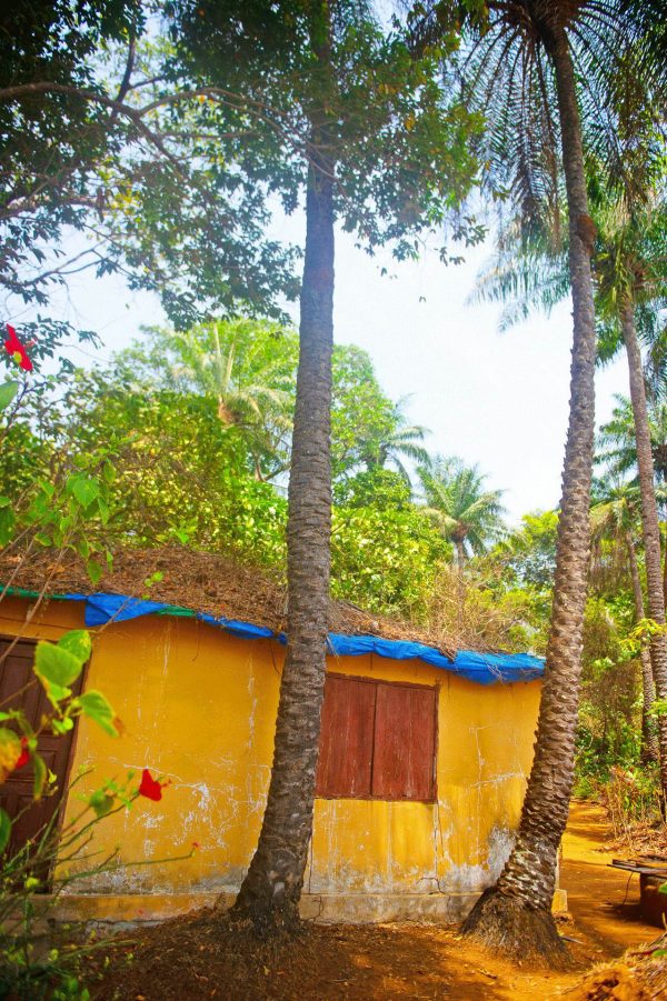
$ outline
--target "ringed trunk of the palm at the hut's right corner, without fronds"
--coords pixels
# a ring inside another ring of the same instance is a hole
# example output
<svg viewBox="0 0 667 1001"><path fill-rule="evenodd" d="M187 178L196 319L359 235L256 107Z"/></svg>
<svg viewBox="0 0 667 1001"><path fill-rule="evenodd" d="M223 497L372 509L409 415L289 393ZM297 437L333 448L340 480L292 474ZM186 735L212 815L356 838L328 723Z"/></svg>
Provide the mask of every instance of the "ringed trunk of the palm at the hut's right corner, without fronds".
<svg viewBox="0 0 667 1001"><path fill-rule="evenodd" d="M589 507L595 430L595 308L590 219L571 56L563 29L549 47L556 70L569 210L574 343L570 412L563 470L551 628L535 759L511 854L464 931L487 945L558 965L566 947L551 917L557 853L569 811L579 705L584 608L588 583Z"/></svg>

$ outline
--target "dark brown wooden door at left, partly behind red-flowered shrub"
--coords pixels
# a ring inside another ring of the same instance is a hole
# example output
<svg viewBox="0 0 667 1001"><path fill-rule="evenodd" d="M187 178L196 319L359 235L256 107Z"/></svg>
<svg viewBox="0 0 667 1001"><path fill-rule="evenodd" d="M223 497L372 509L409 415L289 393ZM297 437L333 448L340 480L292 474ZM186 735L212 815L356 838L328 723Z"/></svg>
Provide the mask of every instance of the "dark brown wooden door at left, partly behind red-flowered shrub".
<svg viewBox="0 0 667 1001"><path fill-rule="evenodd" d="M0 708L22 709L34 730L39 729L42 714L50 715L51 705L42 685L32 672L34 660L34 640L20 640L11 653L3 655L9 649L10 639L0 637ZM70 685L74 693L81 690L82 677ZM12 820L11 847L16 850L41 830L58 809L67 781L73 730L62 737L49 731L40 734L39 751L47 768L56 775L56 789L51 795L44 795L40 802L32 803L33 773L30 764L12 772L0 785L0 807ZM28 808L28 809L26 809Z"/></svg>

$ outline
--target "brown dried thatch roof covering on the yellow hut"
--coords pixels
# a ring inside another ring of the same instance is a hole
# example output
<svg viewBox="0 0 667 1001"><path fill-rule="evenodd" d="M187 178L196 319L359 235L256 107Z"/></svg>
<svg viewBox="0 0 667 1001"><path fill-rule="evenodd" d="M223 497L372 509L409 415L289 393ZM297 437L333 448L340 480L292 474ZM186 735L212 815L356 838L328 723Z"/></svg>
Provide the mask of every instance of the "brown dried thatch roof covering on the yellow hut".
<svg viewBox="0 0 667 1001"><path fill-rule="evenodd" d="M156 571L162 573L162 579L147 594L146 580ZM285 631L287 624L283 584L266 571L185 547L119 550L113 554L113 572L94 585L81 560L72 553L59 559L50 550L28 555L0 553L0 584L38 592L43 589L49 595L103 591L130 598L150 597L151 601L251 622L276 632ZM366 612L346 601L331 601L329 630L425 643L451 659L457 650L451 637Z"/></svg>

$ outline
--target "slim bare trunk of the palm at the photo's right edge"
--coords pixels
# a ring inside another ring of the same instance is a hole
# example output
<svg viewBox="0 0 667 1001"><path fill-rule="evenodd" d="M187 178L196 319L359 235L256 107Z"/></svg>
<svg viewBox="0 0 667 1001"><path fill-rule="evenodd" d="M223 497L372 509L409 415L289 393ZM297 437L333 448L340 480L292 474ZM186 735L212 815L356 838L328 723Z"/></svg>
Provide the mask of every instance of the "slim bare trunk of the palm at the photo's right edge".
<svg viewBox="0 0 667 1001"><path fill-rule="evenodd" d="M650 442L650 427L646 406L646 386L641 352L635 329L633 306L627 300L620 308L623 339L628 356L630 377L630 399L635 419L637 440L637 468L639 470L639 493L641 497L641 525L644 529L644 554L646 559L646 590L648 613L659 625L665 624L665 592L663 560L660 553L660 528L656 503L654 461ZM656 633L650 638L650 662L658 699L667 699L667 633ZM663 803L667 802L667 717L658 717L658 744L660 748L660 784Z"/></svg>

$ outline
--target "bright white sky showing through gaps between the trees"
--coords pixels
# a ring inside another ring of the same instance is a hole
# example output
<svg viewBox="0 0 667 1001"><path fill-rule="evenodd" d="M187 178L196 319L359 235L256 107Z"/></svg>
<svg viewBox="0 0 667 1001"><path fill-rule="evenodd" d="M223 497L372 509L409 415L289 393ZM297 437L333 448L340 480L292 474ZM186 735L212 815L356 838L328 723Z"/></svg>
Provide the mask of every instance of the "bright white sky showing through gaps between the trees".
<svg viewBox="0 0 667 1001"><path fill-rule="evenodd" d="M280 236L299 239L303 220L280 224ZM508 520L555 507L569 400L570 304L550 319L536 317L509 332L497 332L500 308L466 302L489 247L467 252L459 267L445 268L435 253L418 263L370 259L352 239L337 238L335 337L365 348L394 399L410 396L408 414L430 428L431 452L478 463L488 486L505 491ZM395 278L382 277L385 263ZM49 310L99 332L99 357L126 347L142 324L163 321L160 304L132 293L122 279L71 279L69 297ZM295 321L298 311L293 309ZM20 324L28 312L14 316ZM79 352L72 358L92 363ZM611 410L613 394L627 393L623 357L597 376L598 423Z"/></svg>

